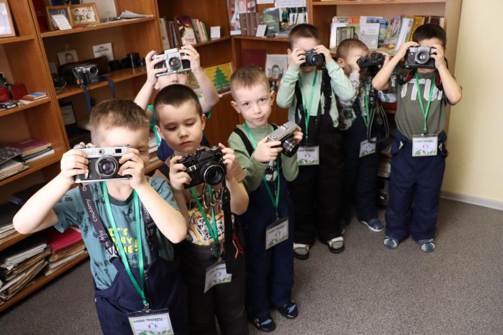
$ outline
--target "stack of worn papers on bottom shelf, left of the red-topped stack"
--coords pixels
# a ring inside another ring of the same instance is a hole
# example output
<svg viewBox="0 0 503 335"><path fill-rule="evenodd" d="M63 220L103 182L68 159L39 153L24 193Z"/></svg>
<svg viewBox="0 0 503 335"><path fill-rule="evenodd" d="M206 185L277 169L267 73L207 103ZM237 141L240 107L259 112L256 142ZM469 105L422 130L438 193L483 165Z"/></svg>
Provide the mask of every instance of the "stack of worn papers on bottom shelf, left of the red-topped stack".
<svg viewBox="0 0 503 335"><path fill-rule="evenodd" d="M0 253L0 300L6 301L31 283L47 264L50 248L40 236L31 236Z"/></svg>

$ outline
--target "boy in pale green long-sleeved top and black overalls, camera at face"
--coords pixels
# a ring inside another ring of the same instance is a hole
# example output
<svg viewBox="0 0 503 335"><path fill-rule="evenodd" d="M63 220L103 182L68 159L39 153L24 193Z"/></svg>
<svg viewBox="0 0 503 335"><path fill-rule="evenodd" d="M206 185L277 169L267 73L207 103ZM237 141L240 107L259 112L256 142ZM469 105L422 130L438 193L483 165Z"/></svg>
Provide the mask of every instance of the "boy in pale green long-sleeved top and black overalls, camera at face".
<svg viewBox="0 0 503 335"><path fill-rule="evenodd" d="M277 104L289 108L289 120L305 133L298 158L299 175L289 184L296 217L293 251L307 260L315 230L332 253L344 250L341 236L342 135L337 130L338 113L334 94L351 100L356 90L344 70L335 63L330 51L321 45L321 34L311 24L298 24L289 35L290 66L279 84ZM326 66L303 66L306 52L323 55ZM305 156L312 157L305 160ZM307 161L307 165L305 162Z"/></svg>

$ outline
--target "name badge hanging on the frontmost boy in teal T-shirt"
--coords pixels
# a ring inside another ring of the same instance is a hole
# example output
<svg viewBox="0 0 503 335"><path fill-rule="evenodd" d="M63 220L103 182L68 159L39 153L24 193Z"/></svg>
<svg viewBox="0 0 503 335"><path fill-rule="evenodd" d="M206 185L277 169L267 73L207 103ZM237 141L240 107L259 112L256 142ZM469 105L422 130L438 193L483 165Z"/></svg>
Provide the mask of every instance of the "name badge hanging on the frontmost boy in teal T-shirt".
<svg viewBox="0 0 503 335"><path fill-rule="evenodd" d="M128 319L134 335L175 334L171 325L168 308L129 313Z"/></svg>

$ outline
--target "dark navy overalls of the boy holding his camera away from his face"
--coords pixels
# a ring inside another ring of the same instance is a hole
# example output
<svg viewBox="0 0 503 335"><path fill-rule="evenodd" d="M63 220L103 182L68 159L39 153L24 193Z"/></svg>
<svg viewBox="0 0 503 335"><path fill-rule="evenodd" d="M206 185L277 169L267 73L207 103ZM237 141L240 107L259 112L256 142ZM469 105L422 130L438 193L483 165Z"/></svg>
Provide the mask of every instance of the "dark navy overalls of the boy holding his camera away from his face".
<svg viewBox="0 0 503 335"><path fill-rule="evenodd" d="M245 225L247 309L251 317L270 312L270 304L283 306L291 299L293 287L293 211L281 178L278 214L289 218L289 239L265 250L265 229L275 222L275 210L264 183L249 194L248 209L240 216Z"/></svg>

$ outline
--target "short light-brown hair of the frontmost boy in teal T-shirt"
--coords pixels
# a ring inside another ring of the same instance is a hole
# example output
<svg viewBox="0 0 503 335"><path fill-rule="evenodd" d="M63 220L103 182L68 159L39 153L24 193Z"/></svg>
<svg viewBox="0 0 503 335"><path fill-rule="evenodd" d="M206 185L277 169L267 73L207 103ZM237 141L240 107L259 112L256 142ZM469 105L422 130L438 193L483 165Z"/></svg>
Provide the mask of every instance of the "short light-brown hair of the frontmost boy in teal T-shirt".
<svg viewBox="0 0 503 335"><path fill-rule="evenodd" d="M134 101L127 99L112 99L94 106L89 127L93 142L99 137L99 128L124 127L136 131L140 128L148 128L149 121L145 110L136 105Z"/></svg>

